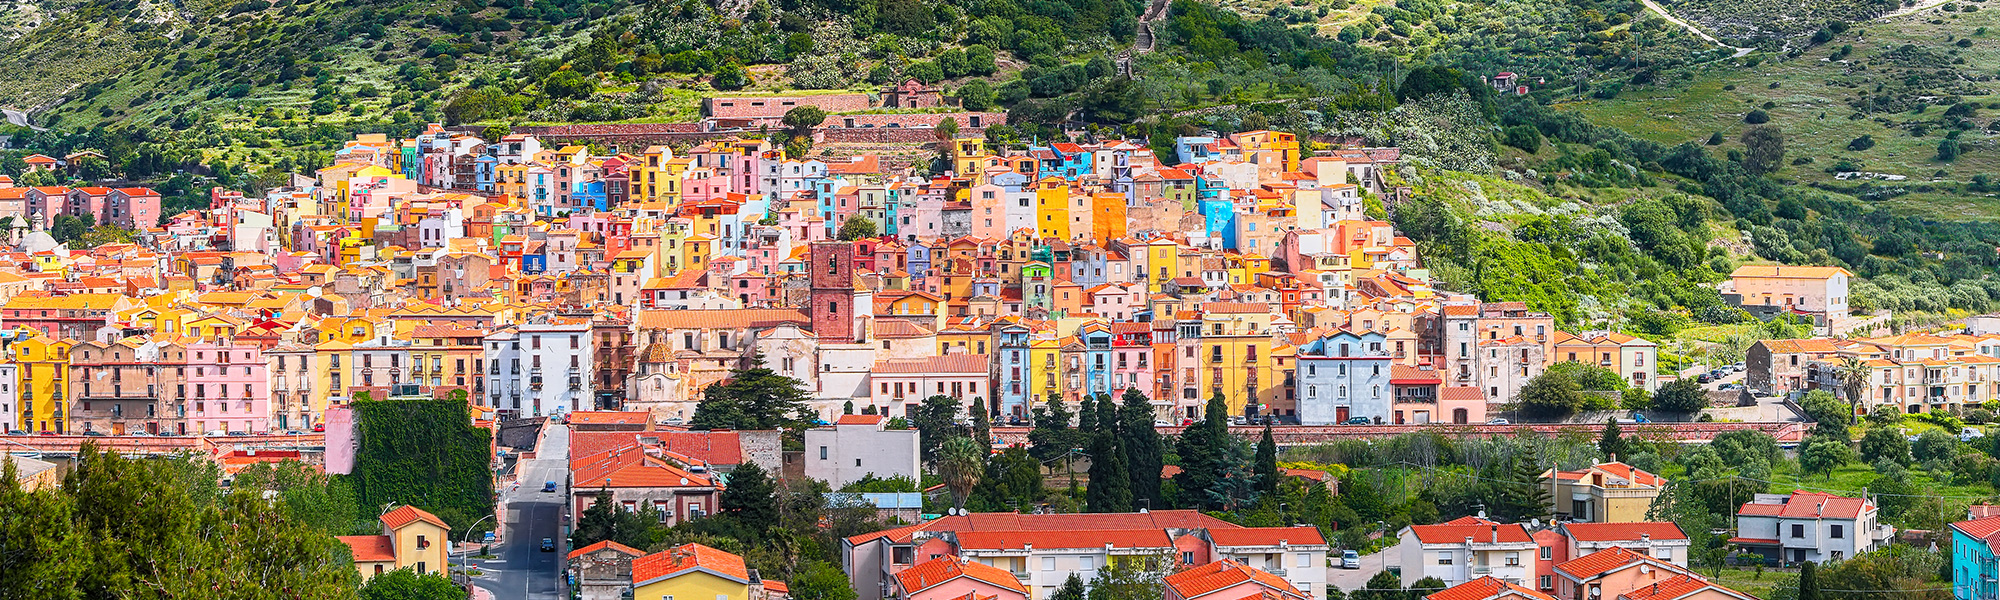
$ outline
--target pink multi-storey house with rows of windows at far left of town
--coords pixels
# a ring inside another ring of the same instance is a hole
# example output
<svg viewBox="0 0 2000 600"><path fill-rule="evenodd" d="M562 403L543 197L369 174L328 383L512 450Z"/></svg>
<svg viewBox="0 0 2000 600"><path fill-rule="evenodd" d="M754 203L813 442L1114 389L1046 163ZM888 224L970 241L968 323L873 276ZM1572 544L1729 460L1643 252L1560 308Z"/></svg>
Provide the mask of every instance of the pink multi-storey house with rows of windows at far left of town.
<svg viewBox="0 0 2000 600"><path fill-rule="evenodd" d="M270 432L270 376L256 344L188 344L188 392L192 430Z"/></svg>

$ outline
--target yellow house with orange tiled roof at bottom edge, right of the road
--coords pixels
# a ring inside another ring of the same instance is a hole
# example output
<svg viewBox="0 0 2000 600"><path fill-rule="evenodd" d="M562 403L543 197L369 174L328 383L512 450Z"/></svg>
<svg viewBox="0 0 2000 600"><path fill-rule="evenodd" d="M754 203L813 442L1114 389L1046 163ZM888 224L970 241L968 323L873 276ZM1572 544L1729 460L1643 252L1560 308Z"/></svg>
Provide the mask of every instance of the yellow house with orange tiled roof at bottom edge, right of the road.
<svg viewBox="0 0 2000 600"><path fill-rule="evenodd" d="M632 560L632 598L766 600L770 588L742 556L702 544L682 544Z"/></svg>

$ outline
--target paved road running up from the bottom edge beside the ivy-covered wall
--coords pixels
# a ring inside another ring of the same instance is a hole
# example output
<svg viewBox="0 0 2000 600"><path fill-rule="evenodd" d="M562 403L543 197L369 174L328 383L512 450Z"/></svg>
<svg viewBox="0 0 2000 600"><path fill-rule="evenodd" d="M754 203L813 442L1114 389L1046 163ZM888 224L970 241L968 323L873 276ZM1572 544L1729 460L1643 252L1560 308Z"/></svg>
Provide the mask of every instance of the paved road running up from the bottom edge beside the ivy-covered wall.
<svg viewBox="0 0 2000 600"><path fill-rule="evenodd" d="M570 428L548 424L534 460L516 466L520 488L504 490L506 530L494 554L500 558L474 562L486 570L476 580L500 600L558 600L564 594L562 556L570 552L562 524L562 498L568 490ZM542 482L556 482L556 492L542 492ZM542 538L556 540L556 552L542 552Z"/></svg>

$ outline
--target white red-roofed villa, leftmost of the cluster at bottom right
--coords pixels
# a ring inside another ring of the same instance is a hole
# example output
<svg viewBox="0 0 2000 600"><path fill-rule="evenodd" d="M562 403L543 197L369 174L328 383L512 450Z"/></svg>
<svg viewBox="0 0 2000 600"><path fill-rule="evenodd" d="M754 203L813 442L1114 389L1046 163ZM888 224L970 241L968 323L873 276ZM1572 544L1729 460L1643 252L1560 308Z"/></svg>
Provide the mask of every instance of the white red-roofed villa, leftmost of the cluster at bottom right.
<svg viewBox="0 0 2000 600"><path fill-rule="evenodd" d="M1526 586L1540 550L1526 526L1476 516L1406 526L1398 536L1402 538L1404 586L1422 578L1438 578L1452 586L1470 582L1478 574Z"/></svg>

